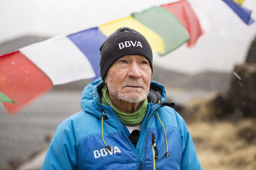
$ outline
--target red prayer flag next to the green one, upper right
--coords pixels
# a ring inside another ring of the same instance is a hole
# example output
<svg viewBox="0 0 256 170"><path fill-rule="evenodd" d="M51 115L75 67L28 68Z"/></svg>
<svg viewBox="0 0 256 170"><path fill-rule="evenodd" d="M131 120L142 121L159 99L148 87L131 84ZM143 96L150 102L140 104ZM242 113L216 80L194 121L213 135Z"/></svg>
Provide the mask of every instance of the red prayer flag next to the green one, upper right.
<svg viewBox="0 0 256 170"><path fill-rule="evenodd" d="M203 31L189 2L186 0L181 0L170 4L161 5L161 7L173 13L187 29L190 35L190 40L188 41L187 46L190 47L194 45L197 38L203 33Z"/></svg>

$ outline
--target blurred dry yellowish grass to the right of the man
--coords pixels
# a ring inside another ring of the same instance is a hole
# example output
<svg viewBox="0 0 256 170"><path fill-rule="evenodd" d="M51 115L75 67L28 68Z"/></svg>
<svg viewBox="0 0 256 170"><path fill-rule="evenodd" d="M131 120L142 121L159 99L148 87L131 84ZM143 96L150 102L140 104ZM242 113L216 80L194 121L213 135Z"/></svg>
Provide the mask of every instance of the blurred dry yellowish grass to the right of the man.
<svg viewBox="0 0 256 170"><path fill-rule="evenodd" d="M188 124L204 170L256 170L256 122Z"/></svg>

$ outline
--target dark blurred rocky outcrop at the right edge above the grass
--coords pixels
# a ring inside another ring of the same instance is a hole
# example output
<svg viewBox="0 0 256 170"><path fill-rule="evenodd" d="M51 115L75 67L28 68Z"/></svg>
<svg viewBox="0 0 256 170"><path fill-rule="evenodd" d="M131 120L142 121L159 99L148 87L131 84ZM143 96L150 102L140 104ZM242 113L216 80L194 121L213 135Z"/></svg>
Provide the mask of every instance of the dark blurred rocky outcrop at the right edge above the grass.
<svg viewBox="0 0 256 170"><path fill-rule="evenodd" d="M235 66L227 92L219 94L208 106L219 118L256 118L256 39L246 62Z"/></svg>

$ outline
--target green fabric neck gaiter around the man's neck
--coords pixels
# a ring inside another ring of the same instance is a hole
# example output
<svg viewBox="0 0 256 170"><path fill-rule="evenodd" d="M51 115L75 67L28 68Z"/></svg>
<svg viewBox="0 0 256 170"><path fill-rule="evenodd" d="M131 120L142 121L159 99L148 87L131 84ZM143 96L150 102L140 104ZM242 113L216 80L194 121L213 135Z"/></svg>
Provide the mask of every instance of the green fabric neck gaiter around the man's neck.
<svg viewBox="0 0 256 170"><path fill-rule="evenodd" d="M134 113L125 113L120 110L118 110L112 101L109 98L108 95L108 88L104 86L102 89L102 98L101 102L104 105L109 105L113 108L115 111L117 117L125 124L125 125L137 125L139 124L145 117L146 111L147 111L147 104L148 104L148 99L145 98L144 101L142 101L136 111Z"/></svg>

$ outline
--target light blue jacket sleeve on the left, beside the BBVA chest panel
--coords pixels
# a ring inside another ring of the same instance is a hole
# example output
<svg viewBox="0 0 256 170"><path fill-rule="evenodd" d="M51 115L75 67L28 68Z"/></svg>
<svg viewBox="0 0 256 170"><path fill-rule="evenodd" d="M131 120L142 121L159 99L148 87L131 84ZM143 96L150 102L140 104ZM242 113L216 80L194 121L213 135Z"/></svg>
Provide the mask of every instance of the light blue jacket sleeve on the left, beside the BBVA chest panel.
<svg viewBox="0 0 256 170"><path fill-rule="evenodd" d="M41 170L77 169L77 145L73 122L65 120L56 129Z"/></svg>

